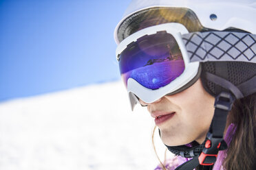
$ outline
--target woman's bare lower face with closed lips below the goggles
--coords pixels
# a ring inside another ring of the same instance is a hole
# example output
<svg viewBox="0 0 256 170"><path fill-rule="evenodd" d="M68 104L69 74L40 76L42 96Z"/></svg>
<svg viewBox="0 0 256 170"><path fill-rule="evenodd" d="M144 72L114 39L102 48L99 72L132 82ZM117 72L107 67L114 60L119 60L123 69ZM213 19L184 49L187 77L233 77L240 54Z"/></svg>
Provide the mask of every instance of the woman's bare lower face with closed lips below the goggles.
<svg viewBox="0 0 256 170"><path fill-rule="evenodd" d="M192 141L204 142L213 119L214 101L215 98L204 90L199 79L180 93L164 96L151 104L141 100L140 103L147 105L147 110L155 118L162 142L175 146Z"/></svg>

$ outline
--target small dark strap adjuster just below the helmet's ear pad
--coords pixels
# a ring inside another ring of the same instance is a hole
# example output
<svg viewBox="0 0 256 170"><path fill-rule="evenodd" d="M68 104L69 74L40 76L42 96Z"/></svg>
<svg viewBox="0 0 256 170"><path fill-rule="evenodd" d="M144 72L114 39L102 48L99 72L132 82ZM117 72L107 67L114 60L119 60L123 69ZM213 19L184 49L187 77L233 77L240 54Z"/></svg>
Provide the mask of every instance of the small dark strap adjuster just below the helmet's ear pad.
<svg viewBox="0 0 256 170"><path fill-rule="evenodd" d="M219 108L222 110L230 111L235 99L231 95L231 93L222 92L217 97L215 97L215 108Z"/></svg>

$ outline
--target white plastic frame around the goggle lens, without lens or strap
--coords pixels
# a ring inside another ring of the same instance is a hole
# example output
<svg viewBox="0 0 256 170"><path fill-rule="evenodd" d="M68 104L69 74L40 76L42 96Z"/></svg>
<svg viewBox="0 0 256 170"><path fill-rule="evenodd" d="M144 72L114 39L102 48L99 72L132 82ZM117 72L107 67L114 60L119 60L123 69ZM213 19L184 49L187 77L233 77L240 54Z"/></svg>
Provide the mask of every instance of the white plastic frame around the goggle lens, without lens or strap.
<svg viewBox="0 0 256 170"><path fill-rule="evenodd" d="M182 53L182 58L184 60L184 71L179 77L176 77L175 80L173 80L171 83L156 90L146 88L145 86L142 86L141 84L136 82L136 80L134 80L133 78L129 78L127 80L127 92L131 104L131 110L134 110L134 106L139 102L138 98L150 104L160 99L161 97L164 97L164 95L173 93L175 90L178 90L182 86L186 85L198 73L200 62L190 62L189 55L186 51L184 42L182 40L182 34L188 34L189 32L186 29L186 27L184 27L180 23L164 23L161 25L147 27L145 29L141 29L140 31L134 34L131 34L131 36L128 36L127 38L125 38L125 40L122 40L122 42L120 42L120 45L118 45L116 49L117 60L119 60L120 54L127 48L127 45L129 45L131 42L136 42L138 38L142 36L149 36L162 31L171 34L178 43L178 46L180 47L180 51Z"/></svg>

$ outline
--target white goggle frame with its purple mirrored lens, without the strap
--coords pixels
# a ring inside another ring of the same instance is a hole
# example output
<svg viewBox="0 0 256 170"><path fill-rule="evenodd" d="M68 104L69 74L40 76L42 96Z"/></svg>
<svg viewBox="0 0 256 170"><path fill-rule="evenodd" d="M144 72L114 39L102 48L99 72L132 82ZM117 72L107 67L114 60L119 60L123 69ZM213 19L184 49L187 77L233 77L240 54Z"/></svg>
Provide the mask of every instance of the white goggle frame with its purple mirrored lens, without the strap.
<svg viewBox="0 0 256 170"><path fill-rule="evenodd" d="M120 42L116 56L132 109L138 98L152 103L198 74L200 64L189 62L182 41L181 35L187 33L179 23L165 23L142 29Z"/></svg>

